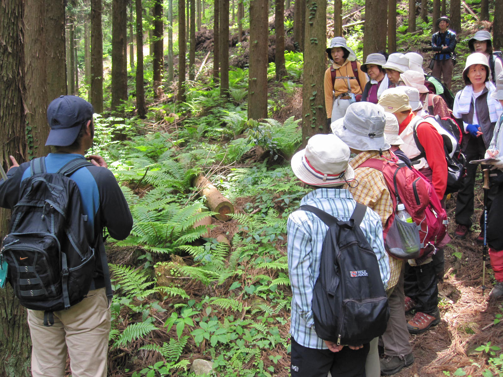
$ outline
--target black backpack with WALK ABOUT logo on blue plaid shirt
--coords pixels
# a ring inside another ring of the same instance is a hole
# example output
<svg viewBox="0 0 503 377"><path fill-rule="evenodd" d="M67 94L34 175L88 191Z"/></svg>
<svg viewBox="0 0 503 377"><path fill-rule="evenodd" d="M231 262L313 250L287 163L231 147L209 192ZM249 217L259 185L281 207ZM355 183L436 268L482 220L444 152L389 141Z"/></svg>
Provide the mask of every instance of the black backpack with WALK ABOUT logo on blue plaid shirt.
<svg viewBox="0 0 503 377"><path fill-rule="evenodd" d="M300 210L328 226L312 299L316 334L338 345L364 344L382 335L388 299L377 257L360 229L367 207L357 203L349 221L312 206Z"/></svg>

